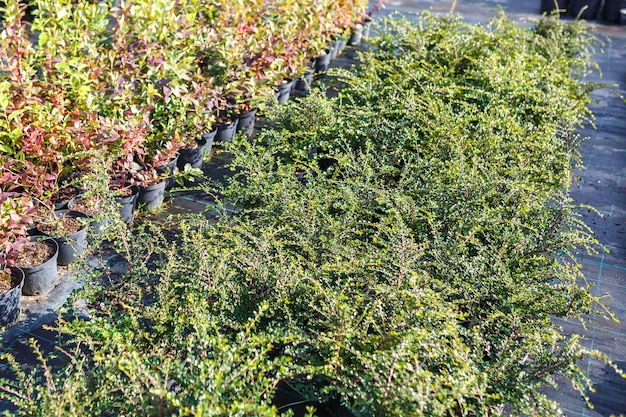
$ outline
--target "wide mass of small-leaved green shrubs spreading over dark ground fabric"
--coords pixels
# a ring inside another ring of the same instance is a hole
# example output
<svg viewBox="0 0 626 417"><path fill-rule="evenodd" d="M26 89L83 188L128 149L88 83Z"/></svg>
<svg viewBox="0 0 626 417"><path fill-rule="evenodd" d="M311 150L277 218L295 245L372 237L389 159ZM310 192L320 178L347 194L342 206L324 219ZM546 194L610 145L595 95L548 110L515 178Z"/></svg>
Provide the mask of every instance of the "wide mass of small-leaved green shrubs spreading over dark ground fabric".
<svg viewBox="0 0 626 417"><path fill-rule="evenodd" d="M21 415L272 415L283 383L358 416L552 416L542 386L584 394L579 360L612 365L551 320L603 308L568 196L592 38L503 16L386 25L339 98L232 146L232 179L205 185L219 220L136 228L122 277L84 277L69 365L4 381Z"/></svg>

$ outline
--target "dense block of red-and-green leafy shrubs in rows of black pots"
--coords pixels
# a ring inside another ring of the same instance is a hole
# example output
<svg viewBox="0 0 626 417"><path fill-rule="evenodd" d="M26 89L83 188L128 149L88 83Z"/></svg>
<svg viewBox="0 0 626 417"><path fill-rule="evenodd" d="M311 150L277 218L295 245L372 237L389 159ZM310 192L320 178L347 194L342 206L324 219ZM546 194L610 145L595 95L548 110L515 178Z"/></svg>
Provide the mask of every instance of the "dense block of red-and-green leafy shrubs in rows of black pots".
<svg viewBox="0 0 626 417"><path fill-rule="evenodd" d="M27 22L26 6L7 1L0 34L1 201L26 228L79 190L123 201L141 189L158 207L173 176L200 175L212 142L232 141L237 122L251 133L256 107L365 16L363 0L32 6ZM26 237L7 226L3 268Z"/></svg>

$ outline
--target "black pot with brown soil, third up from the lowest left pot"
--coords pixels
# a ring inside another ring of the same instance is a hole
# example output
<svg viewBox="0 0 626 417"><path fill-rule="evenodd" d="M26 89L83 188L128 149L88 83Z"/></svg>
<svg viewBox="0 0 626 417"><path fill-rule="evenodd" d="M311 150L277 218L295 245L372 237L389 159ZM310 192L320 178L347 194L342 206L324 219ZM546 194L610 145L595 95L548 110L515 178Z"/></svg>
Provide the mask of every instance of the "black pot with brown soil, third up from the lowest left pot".
<svg viewBox="0 0 626 417"><path fill-rule="evenodd" d="M38 229L57 242L59 245L57 264L66 266L76 262L85 250L88 216L73 210L63 210L55 215L56 220L42 223Z"/></svg>

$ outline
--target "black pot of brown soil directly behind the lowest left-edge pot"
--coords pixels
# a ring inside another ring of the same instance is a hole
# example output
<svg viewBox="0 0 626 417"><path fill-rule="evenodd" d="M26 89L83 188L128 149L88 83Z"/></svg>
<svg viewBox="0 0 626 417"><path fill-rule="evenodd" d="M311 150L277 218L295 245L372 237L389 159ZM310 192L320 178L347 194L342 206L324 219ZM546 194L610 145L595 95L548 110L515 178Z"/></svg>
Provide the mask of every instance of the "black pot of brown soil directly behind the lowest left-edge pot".
<svg viewBox="0 0 626 417"><path fill-rule="evenodd" d="M43 295L54 287L57 280L59 245L53 239L28 244L15 259L24 271L24 295Z"/></svg>

